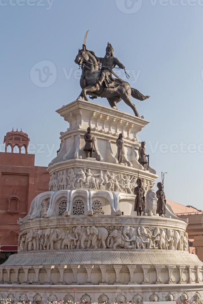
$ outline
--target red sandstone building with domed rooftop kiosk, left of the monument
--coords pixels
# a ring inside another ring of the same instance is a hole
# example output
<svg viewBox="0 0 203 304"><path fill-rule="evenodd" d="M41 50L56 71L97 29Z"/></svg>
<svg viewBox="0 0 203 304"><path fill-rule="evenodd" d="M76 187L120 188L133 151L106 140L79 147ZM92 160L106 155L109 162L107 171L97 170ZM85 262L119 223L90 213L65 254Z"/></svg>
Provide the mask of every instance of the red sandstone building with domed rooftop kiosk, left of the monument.
<svg viewBox="0 0 203 304"><path fill-rule="evenodd" d="M34 154L28 154L29 137L21 131L4 136L5 153L0 152L0 253L1 259L17 251L17 220L25 217L36 195L47 191L47 167L34 165ZM11 153L7 152L10 146ZM19 153L13 153L17 148ZM25 153L21 153L21 152Z"/></svg>

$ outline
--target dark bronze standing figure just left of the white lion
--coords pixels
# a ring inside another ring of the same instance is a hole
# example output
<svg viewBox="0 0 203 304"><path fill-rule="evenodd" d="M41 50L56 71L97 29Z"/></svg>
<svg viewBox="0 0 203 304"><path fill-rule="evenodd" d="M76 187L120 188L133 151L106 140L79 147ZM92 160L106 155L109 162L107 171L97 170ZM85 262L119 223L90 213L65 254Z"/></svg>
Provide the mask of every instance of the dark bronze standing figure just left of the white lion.
<svg viewBox="0 0 203 304"><path fill-rule="evenodd" d="M142 211L145 210L145 189L142 184L142 179L139 177L137 184L138 186L134 189L134 194L136 195L134 211L137 211L137 215L142 215Z"/></svg>

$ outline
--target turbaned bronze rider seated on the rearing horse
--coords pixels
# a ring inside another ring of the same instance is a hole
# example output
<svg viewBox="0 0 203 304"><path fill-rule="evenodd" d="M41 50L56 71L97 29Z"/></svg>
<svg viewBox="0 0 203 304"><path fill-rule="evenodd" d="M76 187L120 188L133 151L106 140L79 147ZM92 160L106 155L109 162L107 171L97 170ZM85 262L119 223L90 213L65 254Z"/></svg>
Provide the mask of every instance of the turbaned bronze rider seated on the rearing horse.
<svg viewBox="0 0 203 304"><path fill-rule="evenodd" d="M114 49L111 43L108 42L106 47L106 55L103 57L98 57L101 62L101 75L100 78L97 79L96 84L105 83L106 87L114 87L115 78L112 77L112 69L115 65L118 65L120 69L125 69L124 65L118 60L118 58L114 57Z"/></svg>

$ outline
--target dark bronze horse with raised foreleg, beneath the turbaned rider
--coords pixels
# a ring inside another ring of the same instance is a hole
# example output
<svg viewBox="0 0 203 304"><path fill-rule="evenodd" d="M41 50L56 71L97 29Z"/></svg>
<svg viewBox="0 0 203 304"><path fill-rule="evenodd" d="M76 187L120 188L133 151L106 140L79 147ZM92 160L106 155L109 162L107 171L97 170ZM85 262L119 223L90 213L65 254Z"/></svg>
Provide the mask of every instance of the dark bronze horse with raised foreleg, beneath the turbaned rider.
<svg viewBox="0 0 203 304"><path fill-rule="evenodd" d="M87 33L86 33L87 34ZM86 39L84 39L85 42ZM88 101L87 95L96 97L106 97L111 108L117 110L117 103L123 100L131 109L134 111L135 116L139 116L136 106L130 100L130 96L138 100L145 100L150 96L142 95L138 90L130 87L129 83L123 81L122 79L116 79L114 81L113 87L106 87L103 82L101 86L96 83L97 79L101 75L100 61L95 56L93 51L86 49L85 43L83 43L83 48L78 52L75 58L75 63L82 67L82 75L80 78L80 86L82 92L80 93L78 99L84 98ZM92 97L93 99L94 97Z"/></svg>

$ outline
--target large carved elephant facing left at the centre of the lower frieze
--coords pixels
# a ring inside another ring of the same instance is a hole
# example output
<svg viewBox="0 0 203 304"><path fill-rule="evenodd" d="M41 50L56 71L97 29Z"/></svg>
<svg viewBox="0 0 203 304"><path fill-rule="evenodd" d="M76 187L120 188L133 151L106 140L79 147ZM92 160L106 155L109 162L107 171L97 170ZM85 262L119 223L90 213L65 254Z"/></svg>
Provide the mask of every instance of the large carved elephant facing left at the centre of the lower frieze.
<svg viewBox="0 0 203 304"><path fill-rule="evenodd" d="M106 248L105 240L108 237L108 230L104 227L87 227L87 233L89 238L92 240L92 246L94 248ZM97 244L97 240L99 241ZM87 247L89 248L89 247Z"/></svg>

